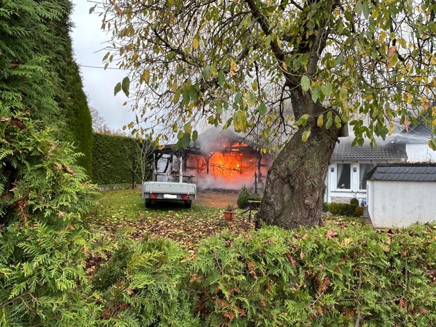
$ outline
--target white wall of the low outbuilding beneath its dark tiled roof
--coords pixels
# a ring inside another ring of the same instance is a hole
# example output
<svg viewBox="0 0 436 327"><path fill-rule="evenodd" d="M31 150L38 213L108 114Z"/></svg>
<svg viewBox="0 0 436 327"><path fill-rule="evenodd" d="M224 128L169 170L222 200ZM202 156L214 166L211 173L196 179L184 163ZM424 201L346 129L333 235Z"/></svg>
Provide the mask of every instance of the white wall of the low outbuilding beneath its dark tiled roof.
<svg viewBox="0 0 436 327"><path fill-rule="evenodd" d="M436 183L368 180L368 213L375 227L436 221Z"/></svg>

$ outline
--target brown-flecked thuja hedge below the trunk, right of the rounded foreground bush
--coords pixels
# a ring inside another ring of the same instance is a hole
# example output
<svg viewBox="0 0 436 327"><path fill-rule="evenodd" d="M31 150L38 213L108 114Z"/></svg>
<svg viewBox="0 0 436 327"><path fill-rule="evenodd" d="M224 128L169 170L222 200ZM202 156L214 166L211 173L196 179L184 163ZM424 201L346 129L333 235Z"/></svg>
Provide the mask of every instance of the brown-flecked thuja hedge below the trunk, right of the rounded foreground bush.
<svg viewBox="0 0 436 327"><path fill-rule="evenodd" d="M222 234L192 261L206 326L436 326L436 232Z"/></svg>

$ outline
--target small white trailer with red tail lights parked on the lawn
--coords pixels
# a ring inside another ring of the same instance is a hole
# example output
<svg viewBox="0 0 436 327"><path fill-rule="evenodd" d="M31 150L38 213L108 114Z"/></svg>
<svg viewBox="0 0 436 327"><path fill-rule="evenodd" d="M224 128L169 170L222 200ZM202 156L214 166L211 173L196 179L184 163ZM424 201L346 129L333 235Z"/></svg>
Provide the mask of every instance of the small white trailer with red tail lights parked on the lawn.
<svg viewBox="0 0 436 327"><path fill-rule="evenodd" d="M173 182L145 182L143 184L143 198L145 207L150 207L152 201L181 200L185 207L192 206L192 200L197 197L197 185L192 183Z"/></svg>

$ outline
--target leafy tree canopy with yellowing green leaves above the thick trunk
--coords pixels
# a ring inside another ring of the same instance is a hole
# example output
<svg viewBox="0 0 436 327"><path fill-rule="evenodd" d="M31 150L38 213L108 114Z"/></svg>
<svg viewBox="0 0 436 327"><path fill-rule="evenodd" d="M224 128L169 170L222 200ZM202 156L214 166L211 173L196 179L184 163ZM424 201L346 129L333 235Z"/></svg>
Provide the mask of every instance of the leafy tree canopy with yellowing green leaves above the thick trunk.
<svg viewBox="0 0 436 327"><path fill-rule="evenodd" d="M314 127L349 122L363 144L395 122L407 126L434 99L434 1L104 0L101 8L113 33L104 59L131 71L115 93L134 88L137 122L168 127L180 145L203 119L257 126L266 139L300 126L303 141ZM433 126L435 117L433 108ZM167 140L151 132L156 144Z"/></svg>

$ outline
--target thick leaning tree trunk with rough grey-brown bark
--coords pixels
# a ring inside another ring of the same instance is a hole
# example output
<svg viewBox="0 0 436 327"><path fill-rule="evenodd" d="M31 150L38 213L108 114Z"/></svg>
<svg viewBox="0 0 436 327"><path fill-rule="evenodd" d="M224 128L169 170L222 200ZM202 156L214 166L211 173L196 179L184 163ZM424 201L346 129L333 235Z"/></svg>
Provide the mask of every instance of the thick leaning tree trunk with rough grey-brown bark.
<svg viewBox="0 0 436 327"><path fill-rule="evenodd" d="M302 142L303 131L298 129L268 171L257 227L260 221L287 229L322 223L325 176L339 129L311 122L307 142Z"/></svg>

